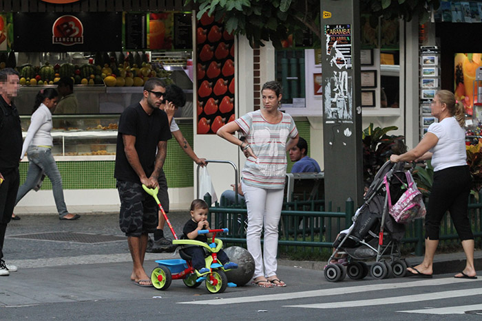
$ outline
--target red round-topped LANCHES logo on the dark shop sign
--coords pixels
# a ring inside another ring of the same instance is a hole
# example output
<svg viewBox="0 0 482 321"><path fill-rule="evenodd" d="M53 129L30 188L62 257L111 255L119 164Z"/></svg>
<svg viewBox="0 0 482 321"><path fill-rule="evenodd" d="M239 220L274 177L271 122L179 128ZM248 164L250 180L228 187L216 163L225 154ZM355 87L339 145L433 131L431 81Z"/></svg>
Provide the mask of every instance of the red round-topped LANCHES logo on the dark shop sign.
<svg viewBox="0 0 482 321"><path fill-rule="evenodd" d="M52 43L75 45L84 43L84 28L76 16L60 16L52 25Z"/></svg>

